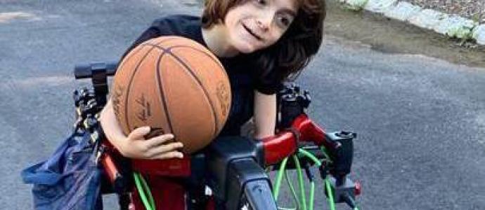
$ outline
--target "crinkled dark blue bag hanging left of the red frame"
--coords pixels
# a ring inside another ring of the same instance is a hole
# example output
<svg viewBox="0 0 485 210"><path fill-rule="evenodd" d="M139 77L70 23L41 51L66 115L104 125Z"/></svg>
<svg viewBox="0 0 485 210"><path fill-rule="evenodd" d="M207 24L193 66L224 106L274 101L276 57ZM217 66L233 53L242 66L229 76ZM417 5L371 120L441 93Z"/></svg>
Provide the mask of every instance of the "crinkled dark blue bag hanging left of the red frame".
<svg viewBox="0 0 485 210"><path fill-rule="evenodd" d="M34 209L103 209L97 146L89 140L87 132L72 134L48 160L22 171L34 185Z"/></svg>

